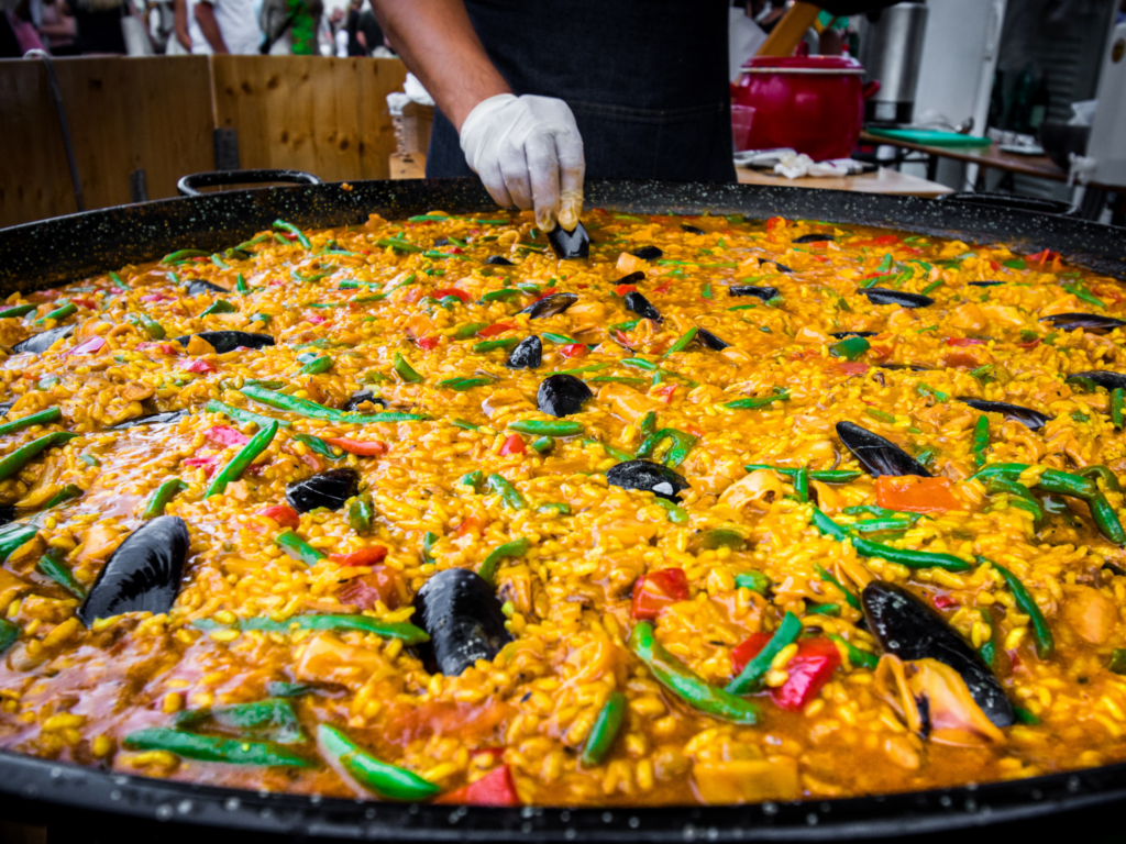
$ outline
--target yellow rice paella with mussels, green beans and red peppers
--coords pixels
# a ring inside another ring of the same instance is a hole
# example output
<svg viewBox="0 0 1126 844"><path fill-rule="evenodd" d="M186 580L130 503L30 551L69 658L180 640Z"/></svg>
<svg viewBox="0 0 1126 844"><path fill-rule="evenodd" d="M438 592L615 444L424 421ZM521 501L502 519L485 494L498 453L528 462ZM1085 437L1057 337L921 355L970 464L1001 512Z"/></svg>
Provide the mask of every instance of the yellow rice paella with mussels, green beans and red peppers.
<svg viewBox="0 0 1126 844"><path fill-rule="evenodd" d="M1118 281L583 225L279 219L10 296L0 747L486 806L1126 760Z"/></svg>

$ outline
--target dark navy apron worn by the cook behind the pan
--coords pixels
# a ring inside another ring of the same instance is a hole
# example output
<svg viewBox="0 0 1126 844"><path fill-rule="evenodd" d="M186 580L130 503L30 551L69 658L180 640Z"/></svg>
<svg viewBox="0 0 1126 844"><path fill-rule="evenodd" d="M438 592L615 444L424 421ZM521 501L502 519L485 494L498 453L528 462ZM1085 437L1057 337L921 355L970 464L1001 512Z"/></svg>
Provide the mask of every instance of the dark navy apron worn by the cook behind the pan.
<svg viewBox="0 0 1126 844"><path fill-rule="evenodd" d="M592 179L735 181L730 0L466 0L517 95L565 100ZM435 111L426 174L472 176Z"/></svg>

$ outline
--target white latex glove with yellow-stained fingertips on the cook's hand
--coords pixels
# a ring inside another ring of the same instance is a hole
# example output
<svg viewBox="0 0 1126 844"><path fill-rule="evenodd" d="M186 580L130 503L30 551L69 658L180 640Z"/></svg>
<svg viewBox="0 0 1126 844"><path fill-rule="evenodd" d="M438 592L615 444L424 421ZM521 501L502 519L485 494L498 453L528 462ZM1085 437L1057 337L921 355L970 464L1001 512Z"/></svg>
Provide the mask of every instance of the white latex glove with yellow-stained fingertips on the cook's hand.
<svg viewBox="0 0 1126 844"><path fill-rule="evenodd" d="M462 151L489 195L504 207L536 209L545 232L574 228L587 162L571 107L552 97L499 93L462 124Z"/></svg>

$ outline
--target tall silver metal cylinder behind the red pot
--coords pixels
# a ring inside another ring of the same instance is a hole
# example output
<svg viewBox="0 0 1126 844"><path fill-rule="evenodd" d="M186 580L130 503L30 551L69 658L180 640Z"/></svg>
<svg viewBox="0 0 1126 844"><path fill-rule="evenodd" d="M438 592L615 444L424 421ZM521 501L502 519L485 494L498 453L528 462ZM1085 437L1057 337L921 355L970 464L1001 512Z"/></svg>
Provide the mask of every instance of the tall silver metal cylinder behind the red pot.
<svg viewBox="0 0 1126 844"><path fill-rule="evenodd" d="M879 80L879 91L868 100L868 123L902 125L914 115L919 62L927 32L927 5L904 2L861 18L860 64L867 79Z"/></svg>

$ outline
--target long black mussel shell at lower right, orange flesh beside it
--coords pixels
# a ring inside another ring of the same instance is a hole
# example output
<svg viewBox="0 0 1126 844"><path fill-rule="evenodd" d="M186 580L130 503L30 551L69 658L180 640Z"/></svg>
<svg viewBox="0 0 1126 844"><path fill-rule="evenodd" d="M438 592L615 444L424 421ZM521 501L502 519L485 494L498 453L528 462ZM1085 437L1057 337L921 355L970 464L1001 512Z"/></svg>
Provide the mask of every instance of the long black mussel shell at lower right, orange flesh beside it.
<svg viewBox="0 0 1126 844"><path fill-rule="evenodd" d="M904 661L937 659L966 681L974 702L998 727L1016 722L1012 703L985 661L935 610L894 583L873 581L860 593L864 617L881 649Z"/></svg>

